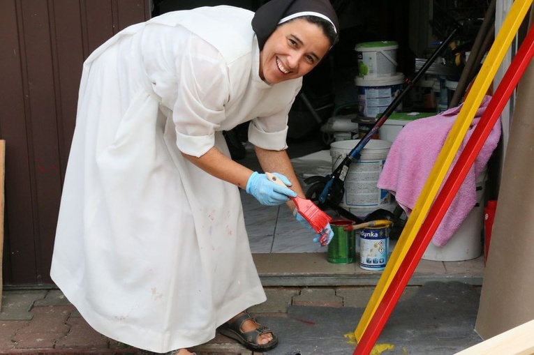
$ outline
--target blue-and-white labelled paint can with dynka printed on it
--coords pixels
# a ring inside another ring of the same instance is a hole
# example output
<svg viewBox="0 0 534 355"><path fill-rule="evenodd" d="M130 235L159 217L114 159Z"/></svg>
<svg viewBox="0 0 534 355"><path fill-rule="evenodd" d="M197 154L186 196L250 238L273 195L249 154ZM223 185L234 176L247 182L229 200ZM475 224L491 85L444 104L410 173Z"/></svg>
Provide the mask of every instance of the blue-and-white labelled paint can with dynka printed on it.
<svg viewBox="0 0 534 355"><path fill-rule="evenodd" d="M359 231L359 267L384 270L390 252L390 227L367 227Z"/></svg>

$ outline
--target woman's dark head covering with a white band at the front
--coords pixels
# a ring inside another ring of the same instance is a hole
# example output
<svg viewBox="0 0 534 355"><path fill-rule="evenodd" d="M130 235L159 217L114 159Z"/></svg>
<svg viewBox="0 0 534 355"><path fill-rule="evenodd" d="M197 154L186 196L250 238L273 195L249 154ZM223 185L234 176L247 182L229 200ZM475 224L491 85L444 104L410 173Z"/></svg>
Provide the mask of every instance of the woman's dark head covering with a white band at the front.
<svg viewBox="0 0 534 355"><path fill-rule="evenodd" d="M339 21L336 11L329 0L271 0L256 10L252 19L252 29L258 37L258 46L263 49L267 38L271 36L280 20L297 13L318 13L327 17L339 33Z"/></svg>

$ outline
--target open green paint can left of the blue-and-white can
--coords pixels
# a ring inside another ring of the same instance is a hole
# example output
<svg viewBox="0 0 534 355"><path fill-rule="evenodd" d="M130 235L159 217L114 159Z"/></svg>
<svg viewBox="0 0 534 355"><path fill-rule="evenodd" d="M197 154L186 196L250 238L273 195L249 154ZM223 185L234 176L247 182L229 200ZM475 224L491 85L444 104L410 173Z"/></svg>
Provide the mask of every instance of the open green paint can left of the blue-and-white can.
<svg viewBox="0 0 534 355"><path fill-rule="evenodd" d="M332 241L328 243L327 260L333 264L351 264L356 261L355 231L343 230L343 227L353 225L353 220L332 220Z"/></svg>

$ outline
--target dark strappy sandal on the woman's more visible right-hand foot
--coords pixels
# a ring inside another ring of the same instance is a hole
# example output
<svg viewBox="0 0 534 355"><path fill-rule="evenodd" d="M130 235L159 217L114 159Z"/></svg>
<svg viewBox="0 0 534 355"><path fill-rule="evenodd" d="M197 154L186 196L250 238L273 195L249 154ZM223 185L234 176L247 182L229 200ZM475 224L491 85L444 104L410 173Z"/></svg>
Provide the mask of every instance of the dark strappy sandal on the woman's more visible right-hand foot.
<svg viewBox="0 0 534 355"><path fill-rule="evenodd" d="M241 326L249 319L258 324L258 328L255 328L252 331L244 332L241 330ZM225 324L219 326L217 331L228 338L237 340L244 345L244 347L253 351L264 352L273 349L276 347L276 345L278 345L278 337L274 335L271 329L267 328L267 326L262 326L259 324L258 321L251 317L251 315L249 315L247 312L244 312L243 315L240 315L237 319L235 319L234 322L226 322ZM267 342L267 344L258 344L258 338L260 335L266 333L272 333L272 340Z"/></svg>

